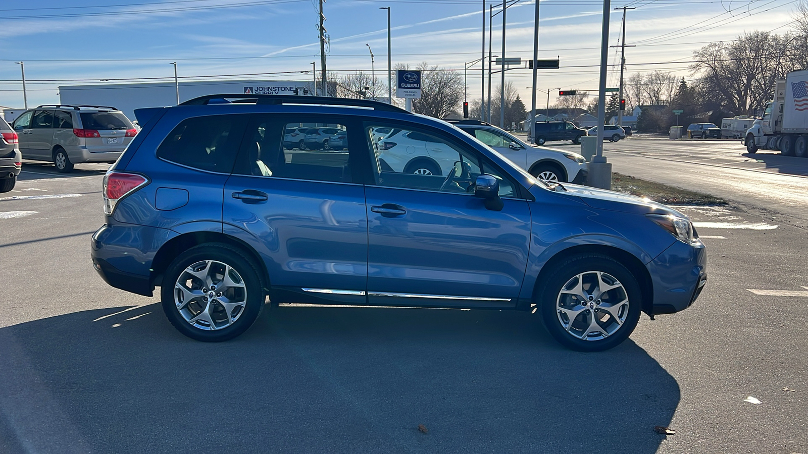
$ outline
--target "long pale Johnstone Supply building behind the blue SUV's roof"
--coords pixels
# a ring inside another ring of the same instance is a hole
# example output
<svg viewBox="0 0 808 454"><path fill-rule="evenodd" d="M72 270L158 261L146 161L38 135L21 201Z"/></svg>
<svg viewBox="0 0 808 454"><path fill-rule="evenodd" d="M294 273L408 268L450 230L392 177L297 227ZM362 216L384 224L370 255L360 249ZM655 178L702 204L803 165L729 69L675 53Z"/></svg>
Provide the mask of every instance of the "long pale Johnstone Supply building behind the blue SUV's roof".
<svg viewBox="0 0 808 454"><path fill-rule="evenodd" d="M179 102L204 95L314 95L313 81L225 80L179 82ZM335 82L328 82L331 94ZM318 93L320 95L320 93ZM141 107L173 106L177 103L174 82L69 85L59 87L61 104L117 107L130 119Z"/></svg>

